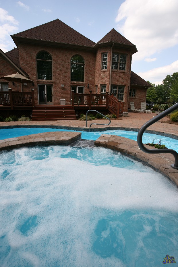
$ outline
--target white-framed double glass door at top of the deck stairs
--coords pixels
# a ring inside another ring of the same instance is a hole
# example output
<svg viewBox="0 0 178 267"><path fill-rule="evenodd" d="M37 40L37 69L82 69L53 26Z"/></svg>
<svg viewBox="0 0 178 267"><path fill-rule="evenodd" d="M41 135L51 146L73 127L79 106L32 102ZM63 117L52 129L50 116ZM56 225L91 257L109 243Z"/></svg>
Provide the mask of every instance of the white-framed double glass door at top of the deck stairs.
<svg viewBox="0 0 178 267"><path fill-rule="evenodd" d="M38 103L53 104L53 87L52 85L38 85Z"/></svg>

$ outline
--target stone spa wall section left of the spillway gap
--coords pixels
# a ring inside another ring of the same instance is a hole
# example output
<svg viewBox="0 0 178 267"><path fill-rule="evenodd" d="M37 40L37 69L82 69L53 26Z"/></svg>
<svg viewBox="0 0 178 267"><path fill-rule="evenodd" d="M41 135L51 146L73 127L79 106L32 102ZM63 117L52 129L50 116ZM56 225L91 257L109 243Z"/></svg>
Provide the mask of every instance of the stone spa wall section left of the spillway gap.
<svg viewBox="0 0 178 267"><path fill-rule="evenodd" d="M31 134L28 136L19 136L0 140L0 151L20 148L23 146L37 145L63 145L67 146L81 139L79 132L46 132L40 134Z"/></svg>

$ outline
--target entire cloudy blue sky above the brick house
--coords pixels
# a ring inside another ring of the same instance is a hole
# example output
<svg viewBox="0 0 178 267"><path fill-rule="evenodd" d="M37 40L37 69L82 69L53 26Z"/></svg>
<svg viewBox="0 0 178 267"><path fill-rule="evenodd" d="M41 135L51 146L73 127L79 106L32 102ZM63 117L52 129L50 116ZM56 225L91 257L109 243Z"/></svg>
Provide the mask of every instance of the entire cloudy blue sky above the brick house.
<svg viewBox="0 0 178 267"><path fill-rule="evenodd" d="M177 0L0 0L0 49L10 35L55 19L98 42L112 28L136 45L132 71L161 84L178 71Z"/></svg>

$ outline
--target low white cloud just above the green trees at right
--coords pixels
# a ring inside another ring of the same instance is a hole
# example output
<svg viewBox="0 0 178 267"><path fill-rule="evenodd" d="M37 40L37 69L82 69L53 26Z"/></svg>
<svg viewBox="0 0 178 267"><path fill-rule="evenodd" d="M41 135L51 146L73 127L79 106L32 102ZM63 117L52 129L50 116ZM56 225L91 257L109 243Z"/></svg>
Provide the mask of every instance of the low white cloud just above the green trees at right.
<svg viewBox="0 0 178 267"><path fill-rule="evenodd" d="M137 74L146 81L150 81L155 85L161 84L162 80L166 78L167 75L172 75L174 72L178 71L178 60L174 61L170 65L162 66L159 68L151 69L145 72L138 72Z"/></svg>

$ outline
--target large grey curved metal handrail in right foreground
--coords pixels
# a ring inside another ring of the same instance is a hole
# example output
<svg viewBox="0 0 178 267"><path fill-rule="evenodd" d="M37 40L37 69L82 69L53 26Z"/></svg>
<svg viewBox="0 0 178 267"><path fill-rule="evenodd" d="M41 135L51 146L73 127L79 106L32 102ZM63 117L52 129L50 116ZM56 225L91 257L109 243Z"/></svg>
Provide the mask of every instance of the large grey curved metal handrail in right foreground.
<svg viewBox="0 0 178 267"><path fill-rule="evenodd" d="M147 121L139 130L138 132L138 136L137 136L137 142L138 142L138 146L140 147L140 149L145 152L145 153L150 153L150 154L160 154L160 153L171 153L173 154L174 158L175 158L175 162L174 164L171 164L171 167L174 169L178 170L178 153L173 150L173 149L167 149L167 148L163 148L163 149L148 149L146 148L143 143L142 143L142 136L144 134L144 131L153 123L155 123L156 121L159 121L160 119L162 119L163 117L165 117L166 115L168 115L169 113L171 113L172 111L176 110L178 108L178 103L173 105L172 107L170 107L169 109L166 109L165 111L163 111L162 113L158 114L156 117L153 117L152 119L150 119L149 121Z"/></svg>

